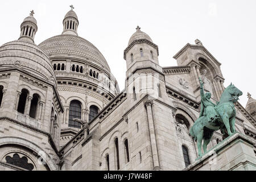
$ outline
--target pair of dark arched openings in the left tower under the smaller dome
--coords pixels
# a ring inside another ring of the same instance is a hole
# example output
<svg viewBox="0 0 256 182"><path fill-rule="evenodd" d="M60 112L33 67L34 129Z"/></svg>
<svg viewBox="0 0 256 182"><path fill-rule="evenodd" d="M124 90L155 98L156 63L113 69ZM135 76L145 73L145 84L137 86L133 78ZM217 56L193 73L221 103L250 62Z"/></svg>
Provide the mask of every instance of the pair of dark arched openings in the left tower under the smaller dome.
<svg viewBox="0 0 256 182"><path fill-rule="evenodd" d="M39 101L40 101L40 96L38 94L35 93L33 94L32 98L29 98L28 90L22 89L22 92L20 93L20 96L19 96L17 111L22 114L29 114L31 118L36 119L37 117L36 113L38 111ZM27 109L29 110L27 110L27 113L24 113L26 106L27 106Z"/></svg>

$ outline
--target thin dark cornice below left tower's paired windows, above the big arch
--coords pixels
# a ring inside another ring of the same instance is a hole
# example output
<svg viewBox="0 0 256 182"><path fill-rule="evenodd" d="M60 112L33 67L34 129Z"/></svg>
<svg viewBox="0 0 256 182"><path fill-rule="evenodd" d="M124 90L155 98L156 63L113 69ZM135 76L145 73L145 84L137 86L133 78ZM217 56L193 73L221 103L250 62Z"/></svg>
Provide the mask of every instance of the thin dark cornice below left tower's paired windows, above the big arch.
<svg viewBox="0 0 256 182"><path fill-rule="evenodd" d="M49 140L49 144L51 144L53 150L54 150L55 153L59 156L59 152L58 152L57 147L56 147L56 145L55 145L55 143L54 143L54 141L53 141L53 139L52 139L51 134L47 133L46 131L42 131L42 130L36 129L35 127L28 126L28 125L26 125L25 123L21 123L21 122L19 122L19 121L16 121L15 119L7 118L7 117L1 117L1 118L0 118L0 121L3 121L3 120L13 122L13 123L18 124L18 125L20 125L20 126L26 127L27 129L30 129L30 130L33 130L33 131L42 133L42 134L44 134L44 135L47 135L47 136L48 136L48 140Z"/></svg>

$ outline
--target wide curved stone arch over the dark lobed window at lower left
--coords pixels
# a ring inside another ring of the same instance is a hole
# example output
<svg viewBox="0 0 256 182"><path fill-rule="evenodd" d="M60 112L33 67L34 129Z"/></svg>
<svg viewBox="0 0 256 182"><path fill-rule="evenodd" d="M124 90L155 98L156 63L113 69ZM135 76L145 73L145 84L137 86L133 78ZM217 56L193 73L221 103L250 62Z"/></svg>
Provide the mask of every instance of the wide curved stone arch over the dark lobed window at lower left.
<svg viewBox="0 0 256 182"><path fill-rule="evenodd" d="M19 137L2 137L2 138L0 138L0 146L3 146L5 144L16 144L18 146L26 147L26 148L34 151L38 155L42 154L42 151L43 151L44 154L46 154L46 158L45 159L43 158L43 159L46 162L49 169L51 171L57 170L57 167L55 166L55 163L51 159L51 156L49 156L46 151L44 151L41 147L39 147L35 143L32 143L29 140L19 138Z"/></svg>

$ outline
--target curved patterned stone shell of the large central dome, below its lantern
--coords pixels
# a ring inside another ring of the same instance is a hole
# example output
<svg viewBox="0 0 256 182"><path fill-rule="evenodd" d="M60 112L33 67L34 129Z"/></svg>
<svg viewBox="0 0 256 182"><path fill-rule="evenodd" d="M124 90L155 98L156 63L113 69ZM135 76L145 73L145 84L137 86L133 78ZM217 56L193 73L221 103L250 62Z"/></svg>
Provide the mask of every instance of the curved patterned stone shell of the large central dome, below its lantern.
<svg viewBox="0 0 256 182"><path fill-rule="evenodd" d="M80 57L91 61L110 72L109 65L101 52L89 41L76 35L57 35L39 44L51 56Z"/></svg>

